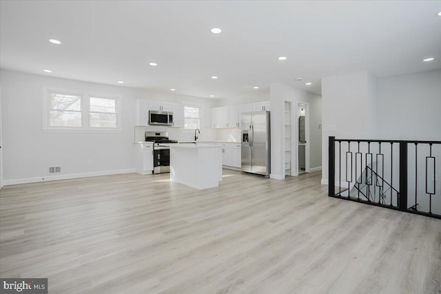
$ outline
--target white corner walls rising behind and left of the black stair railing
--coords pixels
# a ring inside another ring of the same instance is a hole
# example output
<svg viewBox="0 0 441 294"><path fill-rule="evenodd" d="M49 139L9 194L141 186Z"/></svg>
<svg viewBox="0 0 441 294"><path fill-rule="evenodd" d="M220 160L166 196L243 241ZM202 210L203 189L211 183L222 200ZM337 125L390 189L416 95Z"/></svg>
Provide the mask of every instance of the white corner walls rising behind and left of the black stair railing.
<svg viewBox="0 0 441 294"><path fill-rule="evenodd" d="M382 78L367 72L323 78L322 102L325 184L328 136L441 140L441 70Z"/></svg>

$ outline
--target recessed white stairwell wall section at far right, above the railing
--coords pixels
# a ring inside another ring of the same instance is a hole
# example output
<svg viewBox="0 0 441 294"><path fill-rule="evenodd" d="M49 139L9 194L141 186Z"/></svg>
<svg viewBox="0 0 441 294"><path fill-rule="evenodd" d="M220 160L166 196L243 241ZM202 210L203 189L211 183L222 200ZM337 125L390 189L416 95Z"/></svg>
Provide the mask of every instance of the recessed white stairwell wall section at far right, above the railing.
<svg viewBox="0 0 441 294"><path fill-rule="evenodd" d="M441 70L378 78L378 138L441 140Z"/></svg>

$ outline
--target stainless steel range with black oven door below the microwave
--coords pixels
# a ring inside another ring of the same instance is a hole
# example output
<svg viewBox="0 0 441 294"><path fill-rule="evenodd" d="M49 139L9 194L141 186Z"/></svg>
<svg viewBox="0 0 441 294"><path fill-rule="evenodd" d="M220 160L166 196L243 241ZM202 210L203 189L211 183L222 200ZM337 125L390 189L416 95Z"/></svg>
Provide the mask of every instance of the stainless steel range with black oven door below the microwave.
<svg viewBox="0 0 441 294"><path fill-rule="evenodd" d="M145 140L153 142L153 174L170 173L170 140L167 132L145 132Z"/></svg>

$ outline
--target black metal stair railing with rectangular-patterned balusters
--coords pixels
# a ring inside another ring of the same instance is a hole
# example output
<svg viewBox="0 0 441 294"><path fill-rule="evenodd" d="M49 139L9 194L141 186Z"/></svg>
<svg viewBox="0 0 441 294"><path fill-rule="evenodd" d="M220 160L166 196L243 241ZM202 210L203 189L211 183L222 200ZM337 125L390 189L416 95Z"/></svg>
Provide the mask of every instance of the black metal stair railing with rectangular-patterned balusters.
<svg viewBox="0 0 441 294"><path fill-rule="evenodd" d="M441 166L437 157L441 157L441 141L330 136L328 194L441 218Z"/></svg>

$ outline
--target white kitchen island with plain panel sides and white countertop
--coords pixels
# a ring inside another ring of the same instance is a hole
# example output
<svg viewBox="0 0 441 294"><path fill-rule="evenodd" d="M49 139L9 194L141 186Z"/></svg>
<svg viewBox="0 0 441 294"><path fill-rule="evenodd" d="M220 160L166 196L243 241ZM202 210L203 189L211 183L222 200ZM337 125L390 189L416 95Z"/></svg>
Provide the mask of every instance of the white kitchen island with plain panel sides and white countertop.
<svg viewBox="0 0 441 294"><path fill-rule="evenodd" d="M170 145L170 180L199 190L218 187L222 180L221 148L199 143Z"/></svg>

